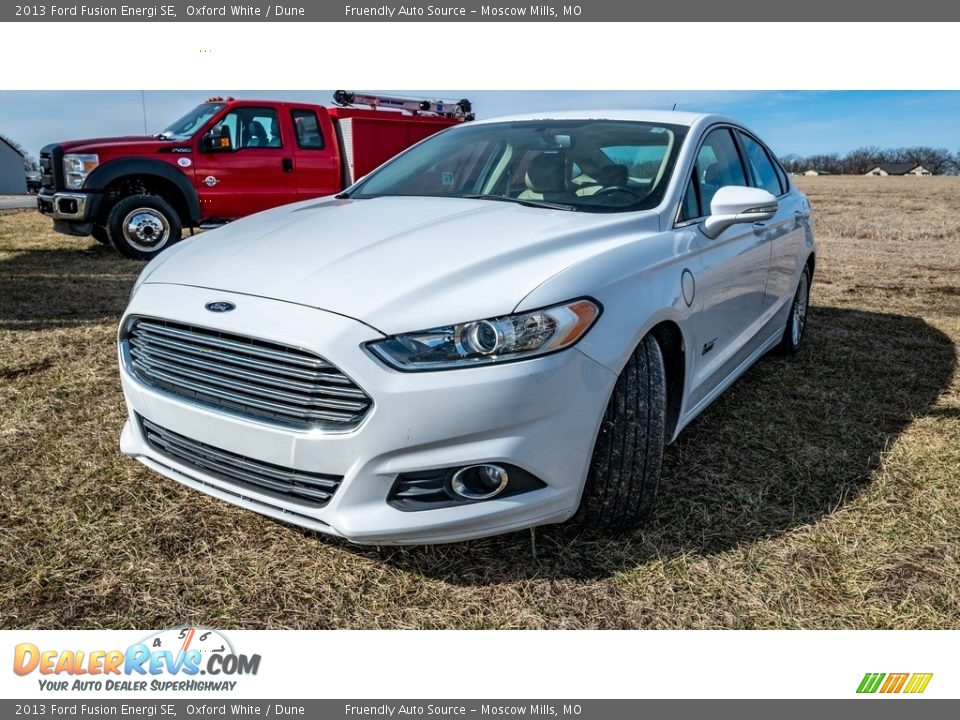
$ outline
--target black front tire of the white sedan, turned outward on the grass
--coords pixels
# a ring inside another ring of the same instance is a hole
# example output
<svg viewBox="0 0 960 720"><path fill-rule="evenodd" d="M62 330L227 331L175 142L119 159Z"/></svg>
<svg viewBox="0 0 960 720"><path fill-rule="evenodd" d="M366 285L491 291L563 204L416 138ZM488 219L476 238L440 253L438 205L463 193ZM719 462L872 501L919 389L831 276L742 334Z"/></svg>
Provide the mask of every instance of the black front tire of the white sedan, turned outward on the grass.
<svg viewBox="0 0 960 720"><path fill-rule="evenodd" d="M648 335L613 389L574 522L627 530L650 516L663 464L666 388L663 354Z"/></svg>

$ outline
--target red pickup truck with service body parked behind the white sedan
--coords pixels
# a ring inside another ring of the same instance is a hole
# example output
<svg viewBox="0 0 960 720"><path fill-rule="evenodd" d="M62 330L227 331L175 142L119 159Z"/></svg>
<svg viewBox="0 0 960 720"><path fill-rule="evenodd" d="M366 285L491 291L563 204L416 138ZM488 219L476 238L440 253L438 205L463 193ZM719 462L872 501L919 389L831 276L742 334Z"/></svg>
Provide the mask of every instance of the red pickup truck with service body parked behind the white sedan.
<svg viewBox="0 0 960 720"><path fill-rule="evenodd" d="M148 260L184 228L339 192L401 150L473 118L467 100L338 90L334 102L210 98L153 137L47 145L38 209L58 232L93 235Z"/></svg>

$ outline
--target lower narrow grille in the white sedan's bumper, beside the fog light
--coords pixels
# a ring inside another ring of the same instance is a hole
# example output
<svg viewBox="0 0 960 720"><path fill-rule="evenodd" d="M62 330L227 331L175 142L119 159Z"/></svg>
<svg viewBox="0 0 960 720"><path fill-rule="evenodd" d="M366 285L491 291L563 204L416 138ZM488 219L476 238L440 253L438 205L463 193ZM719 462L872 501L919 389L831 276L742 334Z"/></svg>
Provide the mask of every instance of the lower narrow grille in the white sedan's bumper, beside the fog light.
<svg viewBox="0 0 960 720"><path fill-rule="evenodd" d="M323 507L343 480L336 475L291 470L221 450L162 428L146 418L140 418L140 427L147 443L161 455L238 488L256 490L301 505Z"/></svg>

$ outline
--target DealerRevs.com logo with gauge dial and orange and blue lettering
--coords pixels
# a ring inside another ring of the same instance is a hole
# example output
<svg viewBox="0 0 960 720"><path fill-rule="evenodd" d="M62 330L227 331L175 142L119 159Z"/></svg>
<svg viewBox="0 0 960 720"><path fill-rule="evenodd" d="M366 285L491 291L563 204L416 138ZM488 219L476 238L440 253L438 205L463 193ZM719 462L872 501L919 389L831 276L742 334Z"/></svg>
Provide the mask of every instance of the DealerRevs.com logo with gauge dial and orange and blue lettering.
<svg viewBox="0 0 960 720"><path fill-rule="evenodd" d="M13 671L36 673L46 691L232 691L239 676L256 675L260 655L237 653L216 630L163 630L126 650L14 648Z"/></svg>

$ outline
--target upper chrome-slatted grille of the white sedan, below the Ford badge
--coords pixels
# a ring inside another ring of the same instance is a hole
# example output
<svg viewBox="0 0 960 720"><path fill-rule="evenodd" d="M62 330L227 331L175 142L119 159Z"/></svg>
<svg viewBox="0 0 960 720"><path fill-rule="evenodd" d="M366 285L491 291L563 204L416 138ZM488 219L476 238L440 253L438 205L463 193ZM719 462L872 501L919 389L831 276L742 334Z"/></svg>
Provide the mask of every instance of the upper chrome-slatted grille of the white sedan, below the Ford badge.
<svg viewBox="0 0 960 720"><path fill-rule="evenodd" d="M340 370L298 348L145 318L124 342L145 385L258 420L345 430L372 404Z"/></svg>

